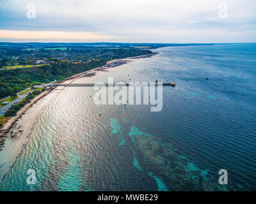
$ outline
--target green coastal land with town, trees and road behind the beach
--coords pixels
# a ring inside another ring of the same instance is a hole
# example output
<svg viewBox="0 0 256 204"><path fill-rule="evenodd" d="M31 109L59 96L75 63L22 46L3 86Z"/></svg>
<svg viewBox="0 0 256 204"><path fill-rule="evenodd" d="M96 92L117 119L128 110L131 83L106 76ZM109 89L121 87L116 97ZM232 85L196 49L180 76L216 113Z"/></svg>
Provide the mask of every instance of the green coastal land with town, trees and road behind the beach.
<svg viewBox="0 0 256 204"><path fill-rule="evenodd" d="M78 76L92 76L94 73L88 71L127 62L113 59L150 57L154 53L147 48L157 45L0 43L0 46L0 128L3 128L32 99L49 92L52 84Z"/></svg>

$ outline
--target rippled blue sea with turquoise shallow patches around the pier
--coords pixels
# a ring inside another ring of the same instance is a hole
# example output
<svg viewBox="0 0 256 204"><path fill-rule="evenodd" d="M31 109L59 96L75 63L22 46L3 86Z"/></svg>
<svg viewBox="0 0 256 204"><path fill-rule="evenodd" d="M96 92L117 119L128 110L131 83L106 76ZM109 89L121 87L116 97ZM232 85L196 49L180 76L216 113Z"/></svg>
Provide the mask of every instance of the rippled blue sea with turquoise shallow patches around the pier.
<svg viewBox="0 0 256 204"><path fill-rule="evenodd" d="M19 156L9 152L20 138L7 140L0 190L255 190L256 45L158 52L79 82L175 82L163 87L161 112L95 105L91 87L66 87L44 106ZM26 183L28 169L35 185ZM220 169L227 186L218 184Z"/></svg>

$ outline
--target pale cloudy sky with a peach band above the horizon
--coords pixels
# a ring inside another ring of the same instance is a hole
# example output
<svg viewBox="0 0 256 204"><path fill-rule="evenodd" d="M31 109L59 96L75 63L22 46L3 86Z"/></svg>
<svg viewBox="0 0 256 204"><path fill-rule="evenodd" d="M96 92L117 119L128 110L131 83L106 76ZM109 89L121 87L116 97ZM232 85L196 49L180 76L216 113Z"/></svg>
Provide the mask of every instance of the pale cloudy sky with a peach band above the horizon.
<svg viewBox="0 0 256 204"><path fill-rule="evenodd" d="M0 41L255 43L255 0L0 0Z"/></svg>

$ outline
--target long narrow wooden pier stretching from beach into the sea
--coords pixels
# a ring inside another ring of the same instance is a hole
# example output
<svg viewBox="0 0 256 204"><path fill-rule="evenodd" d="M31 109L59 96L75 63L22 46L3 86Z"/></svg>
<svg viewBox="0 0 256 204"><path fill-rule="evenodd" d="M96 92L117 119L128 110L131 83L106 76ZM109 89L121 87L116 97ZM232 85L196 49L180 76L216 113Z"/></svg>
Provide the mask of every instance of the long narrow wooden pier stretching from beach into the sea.
<svg viewBox="0 0 256 204"><path fill-rule="evenodd" d="M140 87L145 87L145 86L158 86L158 85L168 85L168 86L172 86L175 87L176 84L175 83L116 83L116 84L108 84L108 83L96 83L96 84L92 84L92 83L88 83L88 84L52 84L52 86L61 86L61 87L94 87L94 86L106 86L106 87L113 87L113 86L140 86Z"/></svg>

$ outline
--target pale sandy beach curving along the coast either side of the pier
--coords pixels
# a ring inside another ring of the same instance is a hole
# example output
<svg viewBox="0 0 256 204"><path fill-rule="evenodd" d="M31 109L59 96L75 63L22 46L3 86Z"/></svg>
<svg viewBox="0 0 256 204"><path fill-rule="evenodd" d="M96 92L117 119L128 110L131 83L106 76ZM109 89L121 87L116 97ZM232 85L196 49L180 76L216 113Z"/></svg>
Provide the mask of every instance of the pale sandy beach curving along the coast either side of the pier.
<svg viewBox="0 0 256 204"><path fill-rule="evenodd" d="M65 78L61 83L72 84L76 80L82 80L86 77L100 77L103 72L108 72L108 69L132 62L132 59L152 57L156 54L157 52L150 55L108 61L104 66ZM105 73L105 75L108 75L108 73ZM67 87L50 87L33 98L31 103L21 108L15 117L10 117L8 122L0 129L0 152L2 154L8 154L8 157L5 157L3 161L4 165L2 166L0 179L4 177L6 172L12 169L12 165L15 164L19 156L26 149L31 133L36 128L35 124L40 119L40 115L44 114L45 107L48 106L49 103L52 103L55 98L58 98L65 89L67 89Z"/></svg>

